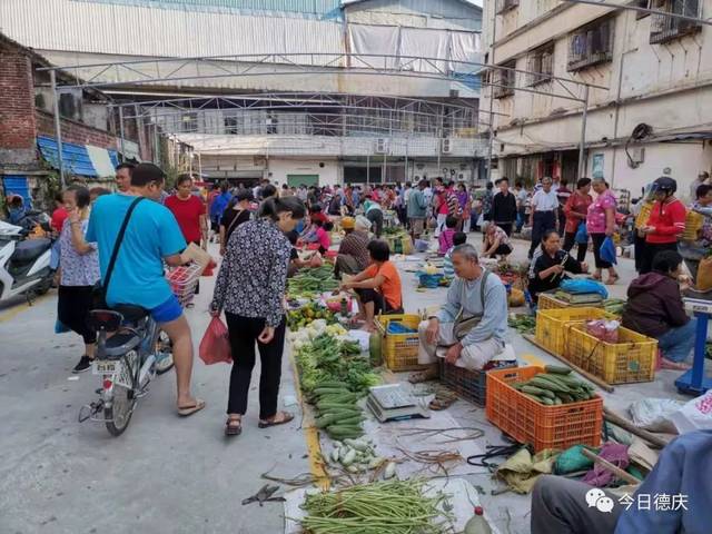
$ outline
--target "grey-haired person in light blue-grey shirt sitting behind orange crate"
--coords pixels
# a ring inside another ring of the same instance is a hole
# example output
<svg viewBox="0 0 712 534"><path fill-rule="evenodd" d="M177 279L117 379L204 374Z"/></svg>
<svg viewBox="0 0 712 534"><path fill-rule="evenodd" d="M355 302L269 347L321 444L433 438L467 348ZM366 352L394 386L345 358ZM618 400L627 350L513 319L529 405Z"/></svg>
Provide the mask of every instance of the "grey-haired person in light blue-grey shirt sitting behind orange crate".
<svg viewBox="0 0 712 534"><path fill-rule="evenodd" d="M516 359L507 343L507 291L502 280L479 265L472 245L455 247L452 258L456 278L447 301L418 328L418 364L429 367L412 375L412 383L436 378L438 357L468 369L488 369Z"/></svg>

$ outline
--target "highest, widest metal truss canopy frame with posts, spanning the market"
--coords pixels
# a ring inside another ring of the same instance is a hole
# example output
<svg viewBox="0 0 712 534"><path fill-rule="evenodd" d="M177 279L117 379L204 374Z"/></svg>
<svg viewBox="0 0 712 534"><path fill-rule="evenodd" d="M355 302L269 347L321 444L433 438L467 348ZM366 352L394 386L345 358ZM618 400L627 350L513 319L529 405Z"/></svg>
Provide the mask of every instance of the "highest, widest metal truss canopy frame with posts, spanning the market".
<svg viewBox="0 0 712 534"><path fill-rule="evenodd" d="M383 63L383 67L379 65ZM195 73L187 72L194 67ZM269 67L269 69L265 69ZM289 70L286 70L286 69ZM285 70L281 70L285 69ZM427 70L425 70L427 69ZM225 55L192 58L158 58L141 59L118 62L88 63L73 66L44 67L38 69L49 71L51 88L57 108L58 92L62 89L102 89L111 87L131 87L145 85L176 85L178 82L244 78L267 76L295 76L295 75L339 75L339 76L387 76L407 77L417 79L436 79L458 83L467 88L466 79L482 76L484 72L508 72L513 78L512 83L495 83L483 81L482 87L491 88L491 98L495 87L503 87L513 91L523 91L534 95L545 95L553 98L583 103L583 118L581 128L580 164L583 161L585 146L586 112L589 107L590 89L607 90L604 86L597 86L584 81L546 75L540 72L515 69L497 65L486 65L477 61L453 60L452 58L428 58L419 56L394 56L376 53L327 53L327 52L295 52L295 53L251 53L251 55ZM93 71L93 72L87 72ZM57 71L70 75L67 81L57 81ZM85 72L80 76L81 72ZM112 73L113 81L102 81L99 78ZM125 77L123 79L121 77ZM527 78L522 83L518 79ZM548 91L533 89L528 80L538 77L548 82ZM385 97L384 97L385 98ZM444 106L441 102L441 106ZM119 108L119 117L122 121L123 107ZM481 110L478 111L481 112ZM494 115L490 111L490 120ZM121 123L122 127L122 123ZM59 115L56 109L56 135L59 150L60 176L63 181L63 158L61 156L61 131ZM492 126L490 127L492 131ZM123 136L121 135L121 139ZM493 136L490 136L490 150L492 150Z"/></svg>

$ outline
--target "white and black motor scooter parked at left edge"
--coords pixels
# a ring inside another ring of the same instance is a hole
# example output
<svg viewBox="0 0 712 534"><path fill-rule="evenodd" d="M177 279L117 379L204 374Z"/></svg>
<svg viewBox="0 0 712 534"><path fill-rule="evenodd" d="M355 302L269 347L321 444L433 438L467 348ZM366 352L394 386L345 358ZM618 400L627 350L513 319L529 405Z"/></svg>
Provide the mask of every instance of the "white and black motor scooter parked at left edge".
<svg viewBox="0 0 712 534"><path fill-rule="evenodd" d="M49 229L48 220L38 220ZM46 294L55 276L50 268L53 240L51 238L27 239L29 230L23 226L0 220L0 303L18 295L28 300Z"/></svg>

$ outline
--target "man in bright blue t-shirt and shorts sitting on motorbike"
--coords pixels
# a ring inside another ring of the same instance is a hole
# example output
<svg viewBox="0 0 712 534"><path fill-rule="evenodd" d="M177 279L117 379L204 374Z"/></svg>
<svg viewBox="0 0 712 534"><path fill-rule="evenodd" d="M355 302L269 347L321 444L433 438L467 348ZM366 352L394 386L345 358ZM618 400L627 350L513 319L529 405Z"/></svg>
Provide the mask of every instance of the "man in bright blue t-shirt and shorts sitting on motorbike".
<svg viewBox="0 0 712 534"><path fill-rule="evenodd" d="M91 210L87 240L97 243L103 280L129 206L136 197L159 200L166 175L151 164L138 165L131 175L128 192L99 197ZM158 201L139 202L126 228L123 241L107 288L107 304L127 304L149 310L151 317L172 342L178 413L191 415L205 407L205 402L190 394L192 340L190 327L178 299L164 276L164 261L171 267L184 265L186 248L174 215Z"/></svg>

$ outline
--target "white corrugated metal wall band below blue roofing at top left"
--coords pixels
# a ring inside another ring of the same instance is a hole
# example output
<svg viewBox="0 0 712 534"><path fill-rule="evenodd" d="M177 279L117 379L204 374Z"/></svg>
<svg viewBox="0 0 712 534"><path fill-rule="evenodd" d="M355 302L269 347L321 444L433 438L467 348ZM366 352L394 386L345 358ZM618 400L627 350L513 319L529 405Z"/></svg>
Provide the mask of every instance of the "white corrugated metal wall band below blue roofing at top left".
<svg viewBox="0 0 712 534"><path fill-rule="evenodd" d="M70 0L2 0L0 20L11 39L41 50L147 57L344 51L335 20Z"/></svg>

